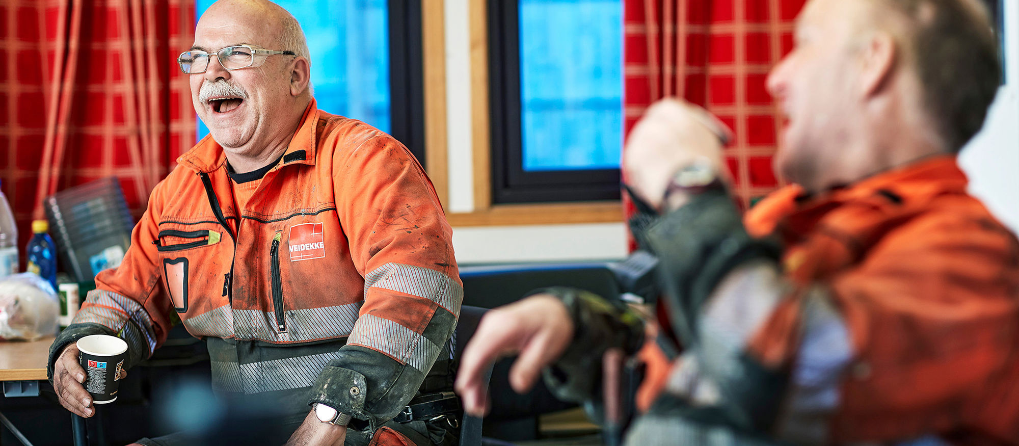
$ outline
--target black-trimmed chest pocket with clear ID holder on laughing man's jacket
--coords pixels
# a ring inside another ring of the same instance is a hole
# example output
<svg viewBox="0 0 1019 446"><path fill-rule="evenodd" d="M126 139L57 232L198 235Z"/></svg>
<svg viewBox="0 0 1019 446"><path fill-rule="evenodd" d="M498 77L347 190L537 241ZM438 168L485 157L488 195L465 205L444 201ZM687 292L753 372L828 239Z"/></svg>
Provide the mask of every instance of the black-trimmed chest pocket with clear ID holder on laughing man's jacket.
<svg viewBox="0 0 1019 446"><path fill-rule="evenodd" d="M201 265L211 253L201 249L203 246L218 244L222 232L212 229L181 231L164 229L159 231L153 241L162 260L162 273L166 292L173 302L177 313L187 312L187 296L190 294L189 280L194 272L192 266Z"/></svg>

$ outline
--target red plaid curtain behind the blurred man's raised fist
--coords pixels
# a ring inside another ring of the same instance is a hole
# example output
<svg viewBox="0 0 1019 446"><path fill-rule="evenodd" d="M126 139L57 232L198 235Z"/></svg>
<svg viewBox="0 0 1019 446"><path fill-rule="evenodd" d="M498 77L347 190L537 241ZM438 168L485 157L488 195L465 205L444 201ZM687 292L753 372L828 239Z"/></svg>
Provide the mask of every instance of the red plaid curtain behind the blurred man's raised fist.
<svg viewBox="0 0 1019 446"><path fill-rule="evenodd" d="M728 124L726 149L744 206L782 181L771 170L782 115L764 88L793 46L805 0L624 0L627 133L655 100L682 97Z"/></svg>

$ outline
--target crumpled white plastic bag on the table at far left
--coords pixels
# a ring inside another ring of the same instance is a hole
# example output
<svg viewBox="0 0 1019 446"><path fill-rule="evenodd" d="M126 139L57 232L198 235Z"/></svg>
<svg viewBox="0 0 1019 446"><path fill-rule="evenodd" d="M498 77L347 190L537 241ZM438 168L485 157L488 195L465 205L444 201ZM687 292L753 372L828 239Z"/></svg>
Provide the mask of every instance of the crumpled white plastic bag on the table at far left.
<svg viewBox="0 0 1019 446"><path fill-rule="evenodd" d="M0 340L52 336L59 313L56 292L38 275L21 273L0 280Z"/></svg>

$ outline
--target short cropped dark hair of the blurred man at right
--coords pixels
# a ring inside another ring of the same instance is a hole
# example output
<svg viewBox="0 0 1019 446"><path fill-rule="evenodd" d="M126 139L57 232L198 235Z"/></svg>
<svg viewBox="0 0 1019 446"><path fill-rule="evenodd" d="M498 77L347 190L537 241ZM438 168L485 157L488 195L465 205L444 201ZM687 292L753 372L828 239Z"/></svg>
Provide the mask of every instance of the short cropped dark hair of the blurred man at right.
<svg viewBox="0 0 1019 446"><path fill-rule="evenodd" d="M983 126L1001 82L998 42L982 3L877 0L905 17L903 42L923 92L921 104L951 152Z"/></svg>

